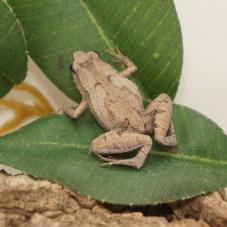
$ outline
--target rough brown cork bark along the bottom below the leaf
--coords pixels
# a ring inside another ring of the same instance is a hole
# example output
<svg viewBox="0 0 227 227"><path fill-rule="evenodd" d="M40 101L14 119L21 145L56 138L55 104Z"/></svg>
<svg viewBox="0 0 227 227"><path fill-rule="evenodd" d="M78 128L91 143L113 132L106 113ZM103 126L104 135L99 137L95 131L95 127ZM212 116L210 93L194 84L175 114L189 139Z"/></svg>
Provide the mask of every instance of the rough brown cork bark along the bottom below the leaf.
<svg viewBox="0 0 227 227"><path fill-rule="evenodd" d="M227 226L227 203L218 192L168 206L175 213L171 218L144 216L138 210L113 212L61 185L25 175L0 174L1 227Z"/></svg>

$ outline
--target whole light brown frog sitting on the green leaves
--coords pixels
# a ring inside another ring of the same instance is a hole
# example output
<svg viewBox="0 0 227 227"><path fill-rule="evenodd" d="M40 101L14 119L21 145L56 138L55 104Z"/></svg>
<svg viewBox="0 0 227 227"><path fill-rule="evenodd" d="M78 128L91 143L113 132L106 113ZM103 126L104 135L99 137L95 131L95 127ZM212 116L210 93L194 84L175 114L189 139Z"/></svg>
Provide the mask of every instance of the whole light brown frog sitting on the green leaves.
<svg viewBox="0 0 227 227"><path fill-rule="evenodd" d="M109 54L124 66L123 70L117 71L96 51L78 50L73 54L70 70L82 99L77 106L64 107L64 112L76 119L89 109L106 130L90 146L102 165L140 169L151 151L152 136L161 145L177 146L171 120L173 103L168 94L161 93L144 108L138 87L129 80L137 66L118 48ZM138 151L133 157L116 158L133 151Z"/></svg>

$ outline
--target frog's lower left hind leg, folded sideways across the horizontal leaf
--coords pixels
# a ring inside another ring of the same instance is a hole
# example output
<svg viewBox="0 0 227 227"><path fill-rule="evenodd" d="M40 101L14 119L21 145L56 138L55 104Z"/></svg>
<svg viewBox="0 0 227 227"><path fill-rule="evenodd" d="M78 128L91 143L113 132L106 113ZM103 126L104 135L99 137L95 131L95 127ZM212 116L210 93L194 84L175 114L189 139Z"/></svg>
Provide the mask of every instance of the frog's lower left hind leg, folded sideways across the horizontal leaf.
<svg viewBox="0 0 227 227"><path fill-rule="evenodd" d="M92 141L91 152L107 161L104 165L125 165L141 168L151 150L152 139L143 134L131 131L112 130ZM138 154L130 159L111 159L105 155L121 154L138 149Z"/></svg>

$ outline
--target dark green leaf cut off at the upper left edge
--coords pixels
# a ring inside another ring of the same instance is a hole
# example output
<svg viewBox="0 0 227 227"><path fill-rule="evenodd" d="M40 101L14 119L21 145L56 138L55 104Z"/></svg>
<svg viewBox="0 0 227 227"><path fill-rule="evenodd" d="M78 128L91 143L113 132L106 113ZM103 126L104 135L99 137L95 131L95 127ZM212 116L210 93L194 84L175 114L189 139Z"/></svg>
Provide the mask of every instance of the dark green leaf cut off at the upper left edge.
<svg viewBox="0 0 227 227"><path fill-rule="evenodd" d="M24 34L6 1L0 0L0 97L26 75L27 54Z"/></svg>

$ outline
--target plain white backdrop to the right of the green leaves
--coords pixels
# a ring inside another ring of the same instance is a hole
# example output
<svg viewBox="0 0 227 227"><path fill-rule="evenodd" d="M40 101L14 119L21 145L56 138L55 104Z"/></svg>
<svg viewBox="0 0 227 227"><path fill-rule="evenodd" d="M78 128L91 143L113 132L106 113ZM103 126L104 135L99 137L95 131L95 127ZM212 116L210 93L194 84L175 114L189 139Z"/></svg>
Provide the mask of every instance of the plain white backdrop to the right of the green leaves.
<svg viewBox="0 0 227 227"><path fill-rule="evenodd" d="M174 0L182 27L184 65L175 98L227 133L227 0Z"/></svg>

